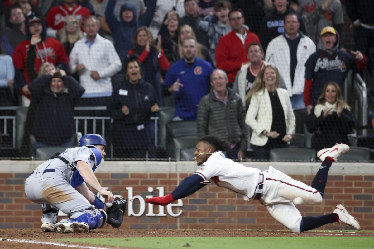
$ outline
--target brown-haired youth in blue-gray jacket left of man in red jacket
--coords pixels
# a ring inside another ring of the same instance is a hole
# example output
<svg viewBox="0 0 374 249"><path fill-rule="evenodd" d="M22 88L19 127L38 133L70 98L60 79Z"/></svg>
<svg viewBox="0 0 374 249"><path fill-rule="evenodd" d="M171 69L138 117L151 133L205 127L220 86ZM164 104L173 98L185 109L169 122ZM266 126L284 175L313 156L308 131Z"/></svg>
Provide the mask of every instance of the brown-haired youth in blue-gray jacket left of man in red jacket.
<svg viewBox="0 0 374 249"><path fill-rule="evenodd" d="M218 18L218 21L216 23L213 23L213 16L208 15L204 18L204 20L200 20L199 22L199 28L203 32L205 32L206 36L208 37L209 53L214 63L213 66L216 66L215 48L217 47L218 41L221 37L223 37L231 31L231 26L229 22L230 10L230 2L219 0L214 4L215 16Z"/></svg>

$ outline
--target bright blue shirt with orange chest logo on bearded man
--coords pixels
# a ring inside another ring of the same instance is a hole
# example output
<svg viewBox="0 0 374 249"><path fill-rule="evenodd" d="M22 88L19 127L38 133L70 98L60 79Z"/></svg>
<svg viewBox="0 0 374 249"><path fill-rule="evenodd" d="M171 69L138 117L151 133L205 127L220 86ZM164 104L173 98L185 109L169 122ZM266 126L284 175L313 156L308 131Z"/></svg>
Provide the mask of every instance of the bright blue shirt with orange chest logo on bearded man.
<svg viewBox="0 0 374 249"><path fill-rule="evenodd" d="M170 87L177 79L183 87L175 92L175 112L184 120L196 120L197 105L200 99L209 93L211 64L199 57L190 66L182 58L172 64L165 77L165 85Z"/></svg>

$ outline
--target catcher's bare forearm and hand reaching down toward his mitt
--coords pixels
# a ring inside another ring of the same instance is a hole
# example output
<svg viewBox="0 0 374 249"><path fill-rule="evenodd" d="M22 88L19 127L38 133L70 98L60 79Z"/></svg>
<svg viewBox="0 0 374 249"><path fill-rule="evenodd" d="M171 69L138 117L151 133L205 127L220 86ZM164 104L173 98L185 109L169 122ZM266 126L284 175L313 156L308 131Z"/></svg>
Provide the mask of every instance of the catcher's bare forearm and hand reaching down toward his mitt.
<svg viewBox="0 0 374 249"><path fill-rule="evenodd" d="M77 170L79 171L79 174L82 176L83 180L85 180L85 183L97 190L102 196L107 197L109 202L114 200L113 194L101 187L91 167L86 162L78 161Z"/></svg>

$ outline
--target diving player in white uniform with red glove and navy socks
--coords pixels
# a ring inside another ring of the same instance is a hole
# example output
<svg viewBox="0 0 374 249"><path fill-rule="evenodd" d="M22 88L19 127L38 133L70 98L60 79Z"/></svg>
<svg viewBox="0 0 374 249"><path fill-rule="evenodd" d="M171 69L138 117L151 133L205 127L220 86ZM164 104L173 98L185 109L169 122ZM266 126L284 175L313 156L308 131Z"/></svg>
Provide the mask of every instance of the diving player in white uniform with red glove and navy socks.
<svg viewBox="0 0 374 249"><path fill-rule="evenodd" d="M322 165L312 181L312 187L292 179L272 166L261 171L227 159L221 151L229 148L230 144L218 137L200 138L195 151L195 160L199 165L196 172L185 178L171 194L148 198L145 201L153 205L166 206L214 181L220 187L241 194L245 200L259 199L277 221L294 233L312 230L332 222L347 224L361 230L360 223L348 214L342 205L337 205L331 214L317 217L301 217L295 207L295 204L313 205L322 202L329 168L332 162L349 150L346 144L336 144L317 153Z"/></svg>

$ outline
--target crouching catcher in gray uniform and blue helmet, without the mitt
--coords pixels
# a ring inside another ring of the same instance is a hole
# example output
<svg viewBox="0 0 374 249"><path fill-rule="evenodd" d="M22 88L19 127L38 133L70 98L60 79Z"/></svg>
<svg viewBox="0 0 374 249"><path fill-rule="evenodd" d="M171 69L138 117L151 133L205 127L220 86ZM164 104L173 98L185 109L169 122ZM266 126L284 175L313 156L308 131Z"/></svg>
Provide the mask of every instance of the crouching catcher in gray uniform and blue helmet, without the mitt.
<svg viewBox="0 0 374 249"><path fill-rule="evenodd" d="M93 173L105 156L106 145L104 137L87 134L80 138L80 147L56 153L26 179L27 197L43 206L43 231L82 233L104 226L107 207L86 183L113 201L113 194L101 187ZM57 222L58 210L69 218Z"/></svg>

